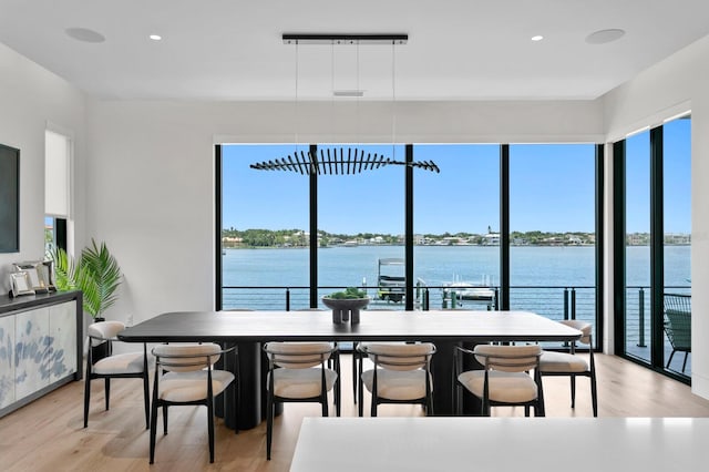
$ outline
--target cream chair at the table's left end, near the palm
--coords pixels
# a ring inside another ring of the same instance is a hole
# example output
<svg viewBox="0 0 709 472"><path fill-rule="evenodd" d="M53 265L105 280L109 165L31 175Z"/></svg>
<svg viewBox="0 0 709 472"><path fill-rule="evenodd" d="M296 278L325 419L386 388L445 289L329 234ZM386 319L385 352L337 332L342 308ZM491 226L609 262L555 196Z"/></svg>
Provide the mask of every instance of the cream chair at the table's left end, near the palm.
<svg viewBox="0 0 709 472"><path fill-rule="evenodd" d="M120 342L116 335L125 329L121 321L99 321L89 325L86 350L86 377L84 380L84 428L89 425L91 381L104 379L105 408L111 400L111 379L143 379L145 402L145 429L150 428L150 392L147 384L147 348L140 352L113 353L113 343Z"/></svg>

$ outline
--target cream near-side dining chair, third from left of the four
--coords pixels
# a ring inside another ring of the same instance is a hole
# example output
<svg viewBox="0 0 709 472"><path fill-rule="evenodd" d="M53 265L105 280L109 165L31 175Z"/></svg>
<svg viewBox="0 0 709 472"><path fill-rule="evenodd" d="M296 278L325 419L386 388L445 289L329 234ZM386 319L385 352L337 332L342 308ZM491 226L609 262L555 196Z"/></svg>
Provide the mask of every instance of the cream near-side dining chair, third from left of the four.
<svg viewBox="0 0 709 472"><path fill-rule="evenodd" d="M363 388L372 394L371 415L377 415L380 403L421 403L427 414L433 414L433 381L431 357L435 346L420 343L361 343L359 371L359 415L363 414ZM362 358L369 358L373 369L362 368Z"/></svg>

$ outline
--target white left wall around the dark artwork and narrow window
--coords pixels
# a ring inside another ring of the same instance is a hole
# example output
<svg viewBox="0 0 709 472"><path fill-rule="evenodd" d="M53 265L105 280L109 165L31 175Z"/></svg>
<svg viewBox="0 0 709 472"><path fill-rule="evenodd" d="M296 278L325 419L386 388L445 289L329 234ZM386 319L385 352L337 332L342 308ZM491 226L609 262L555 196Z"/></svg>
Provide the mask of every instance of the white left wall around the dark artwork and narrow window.
<svg viewBox="0 0 709 472"><path fill-rule="evenodd" d="M9 291L12 263L44 258L47 123L74 135L76 175L81 178L84 109L84 95L76 88L0 44L0 143L20 150L20 252L0 254L0 296ZM82 212L79 204L75 208L79 219Z"/></svg>

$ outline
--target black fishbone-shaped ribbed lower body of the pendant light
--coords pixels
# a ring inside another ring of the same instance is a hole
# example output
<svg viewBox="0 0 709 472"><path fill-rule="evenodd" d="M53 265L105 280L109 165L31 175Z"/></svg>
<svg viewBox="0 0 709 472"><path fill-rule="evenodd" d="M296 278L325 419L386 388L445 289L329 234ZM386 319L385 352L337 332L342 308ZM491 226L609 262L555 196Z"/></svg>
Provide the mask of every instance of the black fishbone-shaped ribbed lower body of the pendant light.
<svg viewBox="0 0 709 472"><path fill-rule="evenodd" d="M378 153L366 153L357 147L327 147L319 150L319 156L310 152L296 151L292 156L251 164L258 171L290 171L302 175L354 175L363 171L372 171L387 165L409 165L440 173L433 161L412 162L394 161Z"/></svg>

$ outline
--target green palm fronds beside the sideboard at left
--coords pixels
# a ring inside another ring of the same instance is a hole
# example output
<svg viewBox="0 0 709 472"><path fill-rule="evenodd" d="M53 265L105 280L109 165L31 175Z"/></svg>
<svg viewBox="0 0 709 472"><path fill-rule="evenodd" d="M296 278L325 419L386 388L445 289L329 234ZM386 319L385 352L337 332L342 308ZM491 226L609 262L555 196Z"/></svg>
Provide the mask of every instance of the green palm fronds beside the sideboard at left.
<svg viewBox="0 0 709 472"><path fill-rule="evenodd" d="M91 246L82 249L78 260L73 260L65 250L52 252L56 288L60 290L79 289L83 293L83 308L94 321L103 321L103 314L117 300L117 289L122 281L121 267L109 252L105 243L97 245L91 239Z"/></svg>

